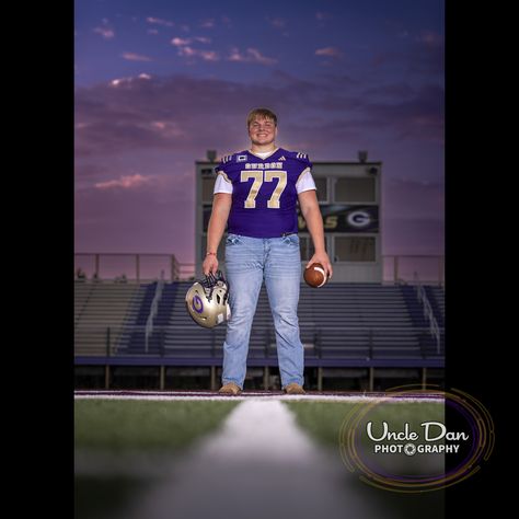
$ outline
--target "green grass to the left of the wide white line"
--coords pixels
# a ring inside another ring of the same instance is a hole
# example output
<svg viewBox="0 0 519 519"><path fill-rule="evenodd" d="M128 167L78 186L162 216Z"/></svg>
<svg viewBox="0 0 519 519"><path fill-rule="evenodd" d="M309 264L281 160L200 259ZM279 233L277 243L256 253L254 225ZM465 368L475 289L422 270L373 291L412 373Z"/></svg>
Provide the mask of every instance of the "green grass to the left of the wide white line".
<svg viewBox="0 0 519 519"><path fill-rule="evenodd" d="M162 457L182 453L197 439L215 431L239 404L229 402L161 402L77 400L74 402L74 517L112 518L131 498L150 489L157 476L136 471L115 473L114 461L157 465ZM99 473L84 472L84 461L94 458ZM160 469L159 469L160 471Z"/></svg>

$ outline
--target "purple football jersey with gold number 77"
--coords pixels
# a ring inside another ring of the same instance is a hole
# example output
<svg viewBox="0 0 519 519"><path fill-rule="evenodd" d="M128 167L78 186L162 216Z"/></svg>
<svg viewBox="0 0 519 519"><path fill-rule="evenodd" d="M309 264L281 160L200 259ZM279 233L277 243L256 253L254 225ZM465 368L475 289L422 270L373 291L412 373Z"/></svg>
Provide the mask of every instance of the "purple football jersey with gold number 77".
<svg viewBox="0 0 519 519"><path fill-rule="evenodd" d="M266 159L249 150L224 157L215 171L232 183L228 232L252 238L298 232L296 183L309 168L307 154L282 148Z"/></svg>

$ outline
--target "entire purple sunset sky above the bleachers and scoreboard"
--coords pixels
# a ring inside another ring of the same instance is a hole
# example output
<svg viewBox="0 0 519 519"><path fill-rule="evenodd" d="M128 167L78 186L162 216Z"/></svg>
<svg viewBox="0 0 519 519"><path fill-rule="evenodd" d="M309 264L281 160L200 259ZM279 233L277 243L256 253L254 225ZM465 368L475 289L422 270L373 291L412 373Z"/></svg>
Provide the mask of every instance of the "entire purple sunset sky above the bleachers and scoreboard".
<svg viewBox="0 0 519 519"><path fill-rule="evenodd" d="M383 254L443 253L443 1L76 0L77 252L194 261L195 161L382 161Z"/></svg>

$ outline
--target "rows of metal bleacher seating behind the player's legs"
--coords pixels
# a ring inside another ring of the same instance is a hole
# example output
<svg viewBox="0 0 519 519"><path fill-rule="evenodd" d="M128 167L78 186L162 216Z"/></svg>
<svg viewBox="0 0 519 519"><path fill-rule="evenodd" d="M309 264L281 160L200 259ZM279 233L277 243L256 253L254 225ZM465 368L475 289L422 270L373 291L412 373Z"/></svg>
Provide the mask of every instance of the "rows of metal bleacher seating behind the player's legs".
<svg viewBox="0 0 519 519"><path fill-rule="evenodd" d="M77 361L123 364L126 359L131 365L221 365L226 327L206 330L192 321L184 302L191 285L192 281L164 284L152 333L145 344L145 325L157 281L77 281ZM443 289L425 288L442 327ZM443 337L439 344L431 337L413 286L334 282L313 289L301 284L298 315L307 366L441 367L443 364ZM277 365L275 328L265 286L251 331L249 364Z"/></svg>

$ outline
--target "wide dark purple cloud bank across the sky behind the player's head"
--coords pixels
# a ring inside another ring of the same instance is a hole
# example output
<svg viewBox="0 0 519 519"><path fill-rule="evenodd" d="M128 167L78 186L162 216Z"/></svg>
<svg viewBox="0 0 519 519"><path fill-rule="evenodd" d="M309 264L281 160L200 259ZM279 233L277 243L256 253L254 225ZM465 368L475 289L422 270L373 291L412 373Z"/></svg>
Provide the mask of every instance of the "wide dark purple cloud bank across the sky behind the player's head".
<svg viewBox="0 0 519 519"><path fill-rule="evenodd" d="M120 79L117 85L78 89L78 163L106 165L113 157L149 151L168 153L170 161L182 159L191 168L207 149L217 148L219 155L243 149L243 119L253 106L263 105L278 113L281 146L304 149L316 160L351 160L367 147L373 160L422 158L419 166L410 163L405 169L425 177L441 171L438 161L427 159L427 153L442 157L443 94L437 85L415 89L400 82L370 91L341 77L310 82L273 74L278 82L256 84L142 74ZM341 92L337 82L344 84Z"/></svg>

